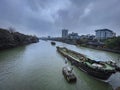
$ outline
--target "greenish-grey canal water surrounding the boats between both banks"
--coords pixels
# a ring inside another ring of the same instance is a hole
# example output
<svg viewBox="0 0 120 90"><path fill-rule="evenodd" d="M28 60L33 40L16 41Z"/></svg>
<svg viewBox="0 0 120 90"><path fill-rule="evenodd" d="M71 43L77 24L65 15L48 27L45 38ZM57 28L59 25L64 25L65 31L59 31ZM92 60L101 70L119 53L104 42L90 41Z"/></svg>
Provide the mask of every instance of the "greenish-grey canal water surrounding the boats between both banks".
<svg viewBox="0 0 120 90"><path fill-rule="evenodd" d="M119 54L77 47L56 42L95 60L114 60ZM0 51L0 90L113 90L120 86L120 73L113 74L106 82L97 80L73 66L76 83L68 83L62 75L65 58L50 41L40 41Z"/></svg>

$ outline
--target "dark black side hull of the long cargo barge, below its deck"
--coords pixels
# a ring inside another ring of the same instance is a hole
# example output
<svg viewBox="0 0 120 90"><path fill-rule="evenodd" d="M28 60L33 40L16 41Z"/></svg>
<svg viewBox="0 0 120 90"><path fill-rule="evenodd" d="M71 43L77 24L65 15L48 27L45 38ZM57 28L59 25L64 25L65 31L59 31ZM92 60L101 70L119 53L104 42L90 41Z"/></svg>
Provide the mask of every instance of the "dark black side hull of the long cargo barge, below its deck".
<svg viewBox="0 0 120 90"><path fill-rule="evenodd" d="M57 49L57 51L61 55L66 57L73 65L78 67L80 70L84 71L85 73L87 73L87 74L89 74L89 75L91 75L95 78L98 78L98 79L101 79L101 80L107 80L113 73L115 73L114 71L103 71L103 70L90 68L87 65L83 64L82 62L77 62L72 57L69 57L68 55L65 55L64 53L62 53L60 51L60 49Z"/></svg>

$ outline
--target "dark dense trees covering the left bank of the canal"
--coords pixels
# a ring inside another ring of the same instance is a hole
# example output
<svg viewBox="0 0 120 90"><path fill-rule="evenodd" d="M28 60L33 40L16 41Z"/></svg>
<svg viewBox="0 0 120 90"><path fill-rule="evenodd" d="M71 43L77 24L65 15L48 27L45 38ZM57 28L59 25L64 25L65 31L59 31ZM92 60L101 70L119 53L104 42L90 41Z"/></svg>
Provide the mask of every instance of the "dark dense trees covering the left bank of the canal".
<svg viewBox="0 0 120 90"><path fill-rule="evenodd" d="M0 28L0 49L36 43L39 39L36 36L24 35L12 29Z"/></svg>

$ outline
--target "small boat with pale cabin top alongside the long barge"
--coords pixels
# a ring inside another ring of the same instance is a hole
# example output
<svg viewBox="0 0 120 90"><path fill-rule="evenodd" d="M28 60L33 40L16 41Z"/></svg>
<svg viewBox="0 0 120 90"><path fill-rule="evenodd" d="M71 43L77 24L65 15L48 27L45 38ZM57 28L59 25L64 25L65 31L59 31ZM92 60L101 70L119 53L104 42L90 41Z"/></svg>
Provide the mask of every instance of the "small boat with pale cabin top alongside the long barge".
<svg viewBox="0 0 120 90"><path fill-rule="evenodd" d="M62 73L68 82L76 81L76 76L74 75L72 70L73 70L73 68L70 68L68 66L62 68Z"/></svg>

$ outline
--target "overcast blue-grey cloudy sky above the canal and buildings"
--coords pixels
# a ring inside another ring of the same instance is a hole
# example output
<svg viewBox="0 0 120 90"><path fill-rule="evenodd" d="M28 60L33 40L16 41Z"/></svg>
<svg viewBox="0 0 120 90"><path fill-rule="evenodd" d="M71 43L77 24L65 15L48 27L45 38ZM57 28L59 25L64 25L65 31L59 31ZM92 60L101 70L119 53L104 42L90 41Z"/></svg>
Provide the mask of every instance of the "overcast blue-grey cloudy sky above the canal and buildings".
<svg viewBox="0 0 120 90"><path fill-rule="evenodd" d="M120 0L0 0L0 27L40 36L61 29L95 34L108 28L120 35Z"/></svg>

